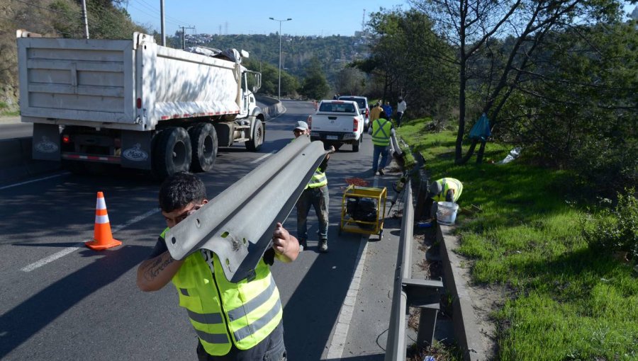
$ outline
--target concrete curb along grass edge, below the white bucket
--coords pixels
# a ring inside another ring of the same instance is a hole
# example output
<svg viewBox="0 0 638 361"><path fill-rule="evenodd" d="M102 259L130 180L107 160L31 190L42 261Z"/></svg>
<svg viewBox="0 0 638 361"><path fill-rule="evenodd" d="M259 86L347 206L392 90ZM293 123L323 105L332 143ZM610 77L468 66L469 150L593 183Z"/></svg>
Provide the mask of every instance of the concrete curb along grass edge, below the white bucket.
<svg viewBox="0 0 638 361"><path fill-rule="evenodd" d="M444 285L452 294L452 323L454 336L463 353L463 360L486 360L481 331L468 292L467 282L461 273L461 258L454 253L459 239L452 235L453 227L437 224L437 241L441 244Z"/></svg>

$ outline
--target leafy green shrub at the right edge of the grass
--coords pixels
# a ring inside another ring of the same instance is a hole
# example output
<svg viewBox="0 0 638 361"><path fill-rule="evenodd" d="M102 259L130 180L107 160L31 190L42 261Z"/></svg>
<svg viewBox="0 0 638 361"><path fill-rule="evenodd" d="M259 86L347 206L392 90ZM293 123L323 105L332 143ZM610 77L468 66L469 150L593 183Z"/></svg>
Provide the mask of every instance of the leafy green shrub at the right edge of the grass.
<svg viewBox="0 0 638 361"><path fill-rule="evenodd" d="M634 262L638 259L638 200L634 189L618 193L615 207L583 219L583 237L590 248L627 251Z"/></svg>

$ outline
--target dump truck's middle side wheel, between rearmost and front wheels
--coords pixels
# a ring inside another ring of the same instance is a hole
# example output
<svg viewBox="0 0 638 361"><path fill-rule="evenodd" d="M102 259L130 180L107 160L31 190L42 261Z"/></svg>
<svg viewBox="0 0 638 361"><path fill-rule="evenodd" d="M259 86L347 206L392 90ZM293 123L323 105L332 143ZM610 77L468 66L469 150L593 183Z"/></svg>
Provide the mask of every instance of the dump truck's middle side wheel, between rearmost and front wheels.
<svg viewBox="0 0 638 361"><path fill-rule="evenodd" d="M189 128L189 137L193 154L191 170L194 172L208 172L213 169L217 158L217 132L211 123L199 123Z"/></svg>

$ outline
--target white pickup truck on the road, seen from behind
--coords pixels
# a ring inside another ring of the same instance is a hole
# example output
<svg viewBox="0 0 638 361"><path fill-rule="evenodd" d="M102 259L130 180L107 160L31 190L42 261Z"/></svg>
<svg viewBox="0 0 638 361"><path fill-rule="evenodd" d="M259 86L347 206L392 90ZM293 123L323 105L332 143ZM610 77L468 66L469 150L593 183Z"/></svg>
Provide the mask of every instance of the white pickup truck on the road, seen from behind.
<svg viewBox="0 0 638 361"><path fill-rule="evenodd" d="M352 151L359 151L364 122L355 101L321 101L317 113L308 116L310 140L321 140L337 149L342 144L352 144Z"/></svg>

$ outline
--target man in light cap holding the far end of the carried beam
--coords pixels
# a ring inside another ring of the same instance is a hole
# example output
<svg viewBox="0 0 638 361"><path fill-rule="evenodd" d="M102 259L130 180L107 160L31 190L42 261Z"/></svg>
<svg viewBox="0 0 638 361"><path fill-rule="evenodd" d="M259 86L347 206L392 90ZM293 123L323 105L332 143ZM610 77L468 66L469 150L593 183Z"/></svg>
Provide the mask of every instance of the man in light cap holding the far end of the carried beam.
<svg viewBox="0 0 638 361"><path fill-rule="evenodd" d="M295 138L298 138L308 134L310 130L308 129L308 124L300 120L297 122L293 132ZM330 152L334 151L335 147L330 147ZM325 168L328 168L328 159L330 159L330 154L325 156L319 168L315 170L313 178L310 178L306 189L303 190L299 200L297 200L297 239L299 240L300 251L308 248L308 213L310 212L310 206L312 206L315 208L315 214L317 214L319 219L319 229L317 231L319 251L322 253L328 252L328 204L330 203L330 197L328 195L328 178L325 176Z"/></svg>

